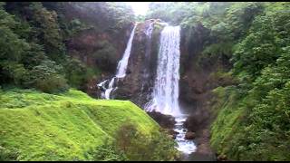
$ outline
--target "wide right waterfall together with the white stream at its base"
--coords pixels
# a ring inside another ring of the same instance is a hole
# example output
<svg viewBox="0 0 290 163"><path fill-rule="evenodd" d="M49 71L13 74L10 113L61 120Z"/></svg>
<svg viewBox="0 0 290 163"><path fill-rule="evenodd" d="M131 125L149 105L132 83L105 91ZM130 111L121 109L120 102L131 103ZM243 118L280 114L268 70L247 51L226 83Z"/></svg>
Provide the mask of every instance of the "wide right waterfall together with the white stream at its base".
<svg viewBox="0 0 290 163"><path fill-rule="evenodd" d="M182 114L179 108L180 27L165 25L160 37L157 77L152 99L145 105L145 110L173 116L176 120L174 130L178 132L177 149L190 154L196 150L196 146L192 140L185 139L187 129L183 128L183 124L187 115Z"/></svg>

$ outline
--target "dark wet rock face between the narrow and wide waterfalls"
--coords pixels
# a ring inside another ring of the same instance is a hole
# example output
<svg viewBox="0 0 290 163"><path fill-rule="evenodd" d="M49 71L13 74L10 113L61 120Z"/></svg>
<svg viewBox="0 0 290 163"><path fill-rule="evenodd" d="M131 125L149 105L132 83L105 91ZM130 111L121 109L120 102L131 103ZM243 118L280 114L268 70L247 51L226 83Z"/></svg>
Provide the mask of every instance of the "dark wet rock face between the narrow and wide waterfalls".
<svg viewBox="0 0 290 163"><path fill-rule="evenodd" d="M150 100L154 86L161 26L155 28L149 37L145 34L151 21L138 24L131 48L127 75L118 81L118 90L112 93L114 99L131 100L141 108Z"/></svg>

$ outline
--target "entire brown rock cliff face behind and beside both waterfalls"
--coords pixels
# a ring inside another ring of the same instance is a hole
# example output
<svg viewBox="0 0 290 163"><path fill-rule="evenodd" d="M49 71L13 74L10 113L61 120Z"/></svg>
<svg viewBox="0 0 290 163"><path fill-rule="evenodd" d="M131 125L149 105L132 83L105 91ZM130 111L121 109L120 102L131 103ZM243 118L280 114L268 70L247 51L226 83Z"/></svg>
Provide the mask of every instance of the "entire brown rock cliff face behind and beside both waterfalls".
<svg viewBox="0 0 290 163"><path fill-rule="evenodd" d="M160 45L162 25L154 24L151 38L145 34L151 21L138 24L131 47L131 56L128 62L127 75L116 84L118 89L111 93L113 99L130 100L144 108L150 101L150 94L156 77L157 58ZM101 91L96 83L111 79L115 75L117 63L121 60L131 34L133 24L128 24L119 34L87 30L70 40L69 50L74 57L80 58L88 65L102 67L102 76L93 78L88 83L87 92L93 97L100 98ZM210 42L210 31L198 24L192 29L181 30L180 42L180 80L179 102L181 108L190 114L185 126L189 131L197 134L198 152L212 154L209 149L209 124L214 115L209 110L211 90L217 87L211 73L216 72L223 62L205 62L199 65L198 59L205 45ZM116 49L112 62L96 61L94 53L102 51L102 43L106 41ZM154 116L153 116L154 117ZM158 116L157 116L158 117ZM159 118L158 118L159 119ZM166 121L166 120L165 120ZM160 122L162 123L162 122Z"/></svg>

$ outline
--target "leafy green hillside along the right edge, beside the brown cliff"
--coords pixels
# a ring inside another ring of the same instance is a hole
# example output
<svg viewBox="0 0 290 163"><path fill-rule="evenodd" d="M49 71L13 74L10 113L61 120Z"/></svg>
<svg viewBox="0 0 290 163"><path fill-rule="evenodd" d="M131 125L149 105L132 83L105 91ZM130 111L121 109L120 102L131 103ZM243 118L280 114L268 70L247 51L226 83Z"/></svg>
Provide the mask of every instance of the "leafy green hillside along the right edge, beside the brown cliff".
<svg viewBox="0 0 290 163"><path fill-rule="evenodd" d="M233 160L289 160L289 3L265 5L234 49L239 84L219 88L211 145ZM246 28L246 27L243 27ZM232 96L237 94L237 98Z"/></svg>

